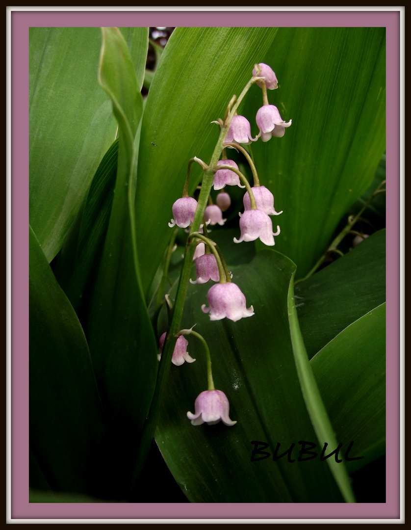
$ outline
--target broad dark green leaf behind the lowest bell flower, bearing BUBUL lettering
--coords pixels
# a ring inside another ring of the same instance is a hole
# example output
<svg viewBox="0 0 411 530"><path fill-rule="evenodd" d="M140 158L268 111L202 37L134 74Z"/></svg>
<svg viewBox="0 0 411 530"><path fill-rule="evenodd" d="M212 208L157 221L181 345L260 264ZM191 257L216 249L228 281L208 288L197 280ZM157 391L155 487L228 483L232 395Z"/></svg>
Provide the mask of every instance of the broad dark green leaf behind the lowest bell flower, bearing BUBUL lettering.
<svg viewBox="0 0 411 530"><path fill-rule="evenodd" d="M194 427L187 419L196 396L207 389L205 355L189 335L187 351L196 361L172 365L156 441L191 502L343 501L328 461L320 461L327 440L315 434L294 363L287 302L294 270L288 258L271 250L233 268L233 281L255 312L235 323L211 322L201 311L210 285L189 287L182 328L196 324L209 343L216 388L226 393L230 418L237 421L233 427L221 422ZM256 453L256 459L264 459L252 461L253 441L269 444L256 448L271 456ZM316 458L298 461L302 441L316 444ZM273 461L278 443L278 455L296 444L295 462L288 462L287 455ZM346 479L344 463L335 466Z"/></svg>

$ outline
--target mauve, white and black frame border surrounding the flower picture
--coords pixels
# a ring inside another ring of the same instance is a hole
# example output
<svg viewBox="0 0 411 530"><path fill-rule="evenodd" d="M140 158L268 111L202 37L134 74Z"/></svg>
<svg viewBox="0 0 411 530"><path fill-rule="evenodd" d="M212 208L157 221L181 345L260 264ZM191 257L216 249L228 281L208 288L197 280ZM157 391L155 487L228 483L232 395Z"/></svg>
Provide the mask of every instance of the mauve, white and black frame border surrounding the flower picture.
<svg viewBox="0 0 411 530"><path fill-rule="evenodd" d="M7 522L395 522L403 518L404 7L7 7ZM29 31L35 27L386 27L387 497L364 504L29 503ZM394 215L392 215L394 213ZM389 484L389 487L388 487ZM161 514L159 516L159 514ZM210 514L212 518L210 518Z"/></svg>

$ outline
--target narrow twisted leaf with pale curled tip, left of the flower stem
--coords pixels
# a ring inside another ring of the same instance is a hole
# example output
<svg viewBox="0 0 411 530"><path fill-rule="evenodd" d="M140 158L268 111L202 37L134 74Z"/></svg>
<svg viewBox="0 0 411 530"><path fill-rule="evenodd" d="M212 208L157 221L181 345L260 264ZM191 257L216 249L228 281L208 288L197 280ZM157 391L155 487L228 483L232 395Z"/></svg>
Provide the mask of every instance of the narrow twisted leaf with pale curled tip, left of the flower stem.
<svg viewBox="0 0 411 530"><path fill-rule="evenodd" d="M133 220L135 136L142 97L126 42L103 28L100 83L119 123L117 179L108 232L87 326L107 419L105 494L127 494L142 426L153 395L157 357L144 297Z"/></svg>

